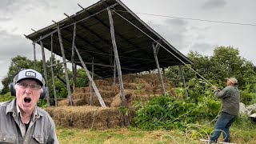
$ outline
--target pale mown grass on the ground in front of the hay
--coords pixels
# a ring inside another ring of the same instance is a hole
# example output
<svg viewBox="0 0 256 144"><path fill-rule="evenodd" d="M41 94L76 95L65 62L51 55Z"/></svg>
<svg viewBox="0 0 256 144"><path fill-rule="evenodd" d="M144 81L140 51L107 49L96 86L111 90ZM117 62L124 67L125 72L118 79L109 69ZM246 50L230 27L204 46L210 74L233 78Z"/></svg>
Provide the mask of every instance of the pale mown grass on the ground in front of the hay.
<svg viewBox="0 0 256 144"><path fill-rule="evenodd" d="M232 142L241 144L256 143L256 130L240 130L239 126L231 128ZM102 144L182 144L182 143L203 143L198 137L186 137L181 130L154 130L142 131L133 128L119 128L112 130L79 130L74 128L57 128L58 140L60 143L102 143ZM191 135L191 134L189 134Z"/></svg>

